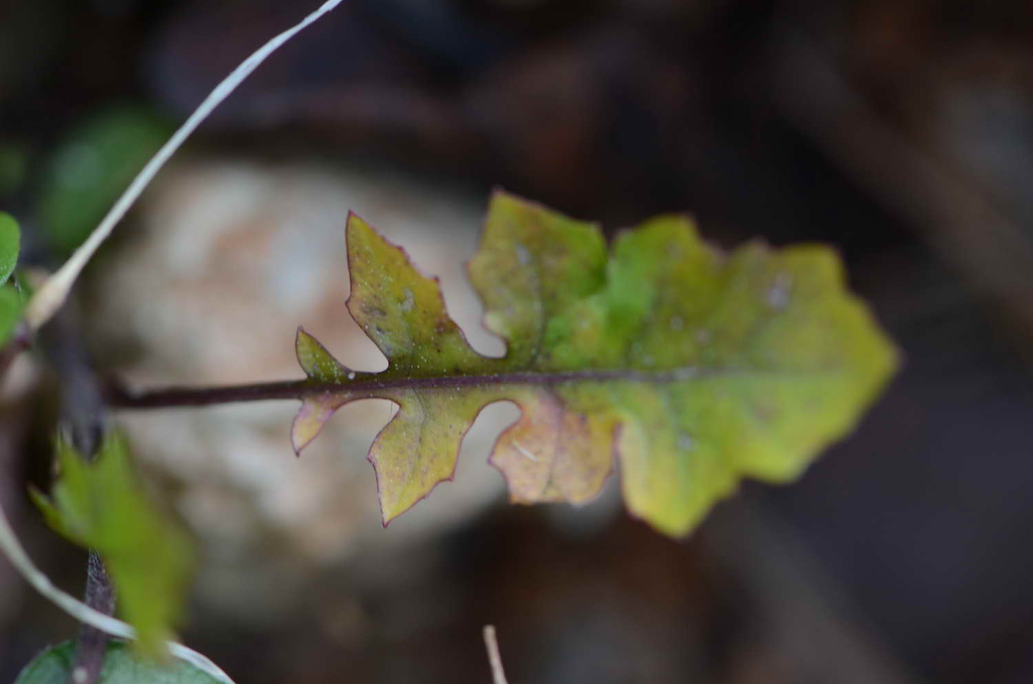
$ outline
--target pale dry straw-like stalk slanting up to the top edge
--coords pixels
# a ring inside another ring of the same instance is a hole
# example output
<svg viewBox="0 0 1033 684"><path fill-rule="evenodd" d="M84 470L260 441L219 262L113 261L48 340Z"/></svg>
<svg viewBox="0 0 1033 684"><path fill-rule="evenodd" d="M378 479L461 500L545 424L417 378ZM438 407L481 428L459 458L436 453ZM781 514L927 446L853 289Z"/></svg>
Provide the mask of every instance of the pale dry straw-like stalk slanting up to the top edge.
<svg viewBox="0 0 1033 684"><path fill-rule="evenodd" d="M65 299L68 297L68 293L71 291L71 286L75 283L75 279L79 278L80 272L93 257L93 254L97 251L108 235L111 235L112 230L115 228L116 224L122 220L132 203L136 201L144 189L147 188L151 180L154 178L155 174L164 166L168 158L180 149L180 145L193 133L194 129L208 118L212 110L215 109L230 93L236 90L241 83L248 77L248 75L255 70L267 57L272 55L280 45L290 40L298 32L307 27L308 25L315 22L317 19L334 9L341 3L341 0L326 0L319 9L315 10L308 17L306 17L301 24L287 29L280 35L271 39L264 45L255 51L248 59L244 60L239 67L233 69L232 73L226 76L222 83L215 87L215 90L205 98L205 101L200 103L200 106L190 115L173 137L168 139L161 150L147 163L147 166L133 178L133 182L129 184L126 191L119 197L119 200L115 202L107 216L104 217L103 221L100 222L90 236L86 239L83 245L75 250L71 257L64 263L61 268L57 270L53 275L46 279L46 282L40 286L36 293L29 300L29 305L25 310L25 320L28 322L29 326L36 330L49 320L54 314L57 313L61 305L64 303Z"/></svg>

